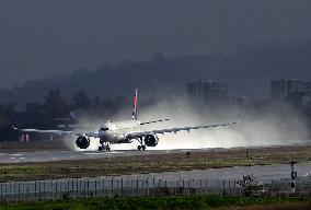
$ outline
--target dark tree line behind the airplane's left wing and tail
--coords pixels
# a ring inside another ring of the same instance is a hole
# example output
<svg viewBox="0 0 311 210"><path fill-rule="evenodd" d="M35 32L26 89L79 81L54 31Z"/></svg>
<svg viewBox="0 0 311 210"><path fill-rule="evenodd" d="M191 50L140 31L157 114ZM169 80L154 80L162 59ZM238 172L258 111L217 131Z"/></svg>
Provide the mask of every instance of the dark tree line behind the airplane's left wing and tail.
<svg viewBox="0 0 311 210"><path fill-rule="evenodd" d="M21 128L54 129L59 124L76 124L79 117L93 119L113 117L129 98L90 97L84 91L76 92L71 98L62 96L60 90L51 90L44 96L43 103L30 103L23 112L16 110L14 104L0 109L0 141L19 140L20 133L12 125Z"/></svg>

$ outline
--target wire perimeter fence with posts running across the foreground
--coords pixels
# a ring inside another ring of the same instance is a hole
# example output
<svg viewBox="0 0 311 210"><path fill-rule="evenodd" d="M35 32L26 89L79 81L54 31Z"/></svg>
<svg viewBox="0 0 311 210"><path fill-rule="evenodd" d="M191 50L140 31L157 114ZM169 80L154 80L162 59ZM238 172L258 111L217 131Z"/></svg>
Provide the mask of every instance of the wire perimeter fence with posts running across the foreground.
<svg viewBox="0 0 311 210"><path fill-rule="evenodd" d="M299 177L292 191L291 179L260 182L253 196L311 196L311 177ZM135 196L245 196L239 180L149 178L70 178L57 180L0 183L1 201L60 200Z"/></svg>

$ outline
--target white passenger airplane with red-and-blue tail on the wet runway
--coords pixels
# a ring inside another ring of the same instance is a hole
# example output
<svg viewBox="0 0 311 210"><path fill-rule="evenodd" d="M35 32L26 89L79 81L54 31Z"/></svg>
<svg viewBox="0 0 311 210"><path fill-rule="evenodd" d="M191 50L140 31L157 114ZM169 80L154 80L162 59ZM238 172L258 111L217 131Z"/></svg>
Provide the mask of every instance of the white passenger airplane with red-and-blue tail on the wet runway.
<svg viewBox="0 0 311 210"><path fill-rule="evenodd" d="M41 132L41 133L54 133L54 135L69 135L76 136L76 144L80 149L87 149L90 145L90 138L100 139L101 145L99 151L111 151L110 144L115 143L131 143L134 140L139 142L137 150L146 150L147 147L156 147L159 143L159 135L164 135L169 132L178 132L178 131L191 131L195 129L203 128L215 128L215 127L226 127L230 125L238 124L240 121L232 121L227 124L217 124L217 125L203 125L203 126L188 126L188 127L176 127L176 128L165 128L165 129L156 129L148 131L139 131L139 128L143 125L156 124L160 121L166 121L169 119L160 119L140 122L137 118L137 108L138 108L138 89L135 91L134 95L134 107L133 115L130 120L125 121L110 121L107 120L102 126L100 126L97 132L83 132L83 131L69 131L69 130L39 130L39 129L20 129L12 126L15 130L22 132Z"/></svg>

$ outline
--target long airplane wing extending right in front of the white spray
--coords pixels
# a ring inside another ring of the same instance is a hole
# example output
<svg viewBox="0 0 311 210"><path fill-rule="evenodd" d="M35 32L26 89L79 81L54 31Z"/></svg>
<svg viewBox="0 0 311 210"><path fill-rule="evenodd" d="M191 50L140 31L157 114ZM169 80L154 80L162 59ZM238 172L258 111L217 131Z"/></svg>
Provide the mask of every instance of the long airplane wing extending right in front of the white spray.
<svg viewBox="0 0 311 210"><path fill-rule="evenodd" d="M203 128L215 128L215 127L226 127L234 124L239 124L240 121L232 121L227 124L216 124L216 125L206 125L206 126L188 126L188 127L180 127L180 128L169 128L169 129L161 129L161 130L149 130L149 131L141 131L141 132L130 132L127 135L127 138L139 138L145 137L147 135L164 135L166 132L178 132L178 131L191 131L196 129Z"/></svg>

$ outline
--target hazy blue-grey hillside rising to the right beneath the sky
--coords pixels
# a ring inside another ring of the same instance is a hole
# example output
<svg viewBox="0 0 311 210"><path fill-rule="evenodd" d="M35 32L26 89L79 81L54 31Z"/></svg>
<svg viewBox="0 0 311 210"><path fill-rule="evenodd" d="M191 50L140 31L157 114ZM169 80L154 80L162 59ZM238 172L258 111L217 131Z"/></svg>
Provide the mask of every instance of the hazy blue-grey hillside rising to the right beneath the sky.
<svg viewBox="0 0 311 210"><path fill-rule="evenodd" d="M0 91L0 103L39 102L59 89L65 96L84 90L103 98L125 96L139 88L145 94L184 92L188 81L228 82L230 94L269 96L269 81L283 77L311 79L311 40L265 42L240 47L234 54L175 58L154 54L150 60L122 60L94 70L78 70L62 78L28 81Z"/></svg>

